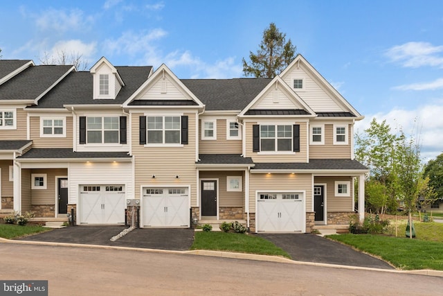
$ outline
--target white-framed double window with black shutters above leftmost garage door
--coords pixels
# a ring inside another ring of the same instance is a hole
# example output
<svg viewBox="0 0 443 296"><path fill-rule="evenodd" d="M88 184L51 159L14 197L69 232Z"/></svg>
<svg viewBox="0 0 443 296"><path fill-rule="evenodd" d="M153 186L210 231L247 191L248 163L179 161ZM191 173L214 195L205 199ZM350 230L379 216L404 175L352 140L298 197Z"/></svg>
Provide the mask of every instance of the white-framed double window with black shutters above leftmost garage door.
<svg viewBox="0 0 443 296"><path fill-rule="evenodd" d="M118 117L88 117L88 143L118 143Z"/></svg>

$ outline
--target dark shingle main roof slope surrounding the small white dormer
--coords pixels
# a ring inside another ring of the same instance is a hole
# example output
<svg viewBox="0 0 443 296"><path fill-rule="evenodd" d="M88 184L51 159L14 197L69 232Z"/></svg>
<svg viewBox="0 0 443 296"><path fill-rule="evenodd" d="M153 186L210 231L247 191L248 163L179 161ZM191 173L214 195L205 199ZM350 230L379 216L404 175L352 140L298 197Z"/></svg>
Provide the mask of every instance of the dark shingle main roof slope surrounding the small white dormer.
<svg viewBox="0 0 443 296"><path fill-rule="evenodd" d="M89 71L69 73L64 80L43 96L34 108L63 108L64 105L115 105L124 103L147 80L152 67L115 67L126 81L115 100L93 99L93 76Z"/></svg>

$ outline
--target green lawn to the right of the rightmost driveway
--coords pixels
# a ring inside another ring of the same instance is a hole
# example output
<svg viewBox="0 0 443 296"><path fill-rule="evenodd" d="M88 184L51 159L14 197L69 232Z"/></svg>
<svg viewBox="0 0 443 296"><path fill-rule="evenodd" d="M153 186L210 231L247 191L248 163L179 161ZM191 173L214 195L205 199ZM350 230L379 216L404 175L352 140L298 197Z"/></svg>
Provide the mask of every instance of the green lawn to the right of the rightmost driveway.
<svg viewBox="0 0 443 296"><path fill-rule="evenodd" d="M421 235L417 227L415 232L417 237ZM403 270L443 270L443 243L440 242L377 234L341 234L327 238L379 256Z"/></svg>

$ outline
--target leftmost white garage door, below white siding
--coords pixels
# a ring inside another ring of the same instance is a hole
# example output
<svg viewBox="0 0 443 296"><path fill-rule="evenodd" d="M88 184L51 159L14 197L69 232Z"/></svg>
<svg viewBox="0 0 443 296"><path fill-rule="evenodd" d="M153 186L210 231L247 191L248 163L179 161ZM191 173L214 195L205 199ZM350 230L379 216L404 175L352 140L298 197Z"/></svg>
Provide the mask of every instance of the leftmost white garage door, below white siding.
<svg viewBox="0 0 443 296"><path fill-rule="evenodd" d="M80 186L80 223L125 223L124 189L123 185Z"/></svg>

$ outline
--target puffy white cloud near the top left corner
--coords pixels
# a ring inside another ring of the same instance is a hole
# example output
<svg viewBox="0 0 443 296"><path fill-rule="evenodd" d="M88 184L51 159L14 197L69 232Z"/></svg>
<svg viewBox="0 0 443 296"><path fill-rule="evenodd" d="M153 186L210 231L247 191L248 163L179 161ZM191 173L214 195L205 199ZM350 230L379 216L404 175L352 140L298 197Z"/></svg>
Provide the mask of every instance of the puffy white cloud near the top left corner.
<svg viewBox="0 0 443 296"><path fill-rule="evenodd" d="M33 17L39 30L59 33L84 31L93 23L93 17L85 16L83 11L79 9L56 10L50 8Z"/></svg>

